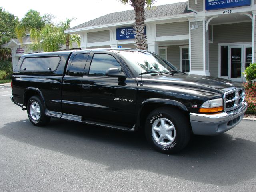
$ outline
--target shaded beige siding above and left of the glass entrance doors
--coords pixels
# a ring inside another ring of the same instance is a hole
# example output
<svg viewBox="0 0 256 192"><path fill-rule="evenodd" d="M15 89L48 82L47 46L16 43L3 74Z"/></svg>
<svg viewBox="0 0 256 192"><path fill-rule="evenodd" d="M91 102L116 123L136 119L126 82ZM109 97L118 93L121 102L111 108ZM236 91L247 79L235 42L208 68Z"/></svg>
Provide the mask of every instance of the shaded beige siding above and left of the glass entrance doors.
<svg viewBox="0 0 256 192"><path fill-rule="evenodd" d="M218 44L252 42L252 22L213 26L213 43L209 44L209 71L218 76Z"/></svg>

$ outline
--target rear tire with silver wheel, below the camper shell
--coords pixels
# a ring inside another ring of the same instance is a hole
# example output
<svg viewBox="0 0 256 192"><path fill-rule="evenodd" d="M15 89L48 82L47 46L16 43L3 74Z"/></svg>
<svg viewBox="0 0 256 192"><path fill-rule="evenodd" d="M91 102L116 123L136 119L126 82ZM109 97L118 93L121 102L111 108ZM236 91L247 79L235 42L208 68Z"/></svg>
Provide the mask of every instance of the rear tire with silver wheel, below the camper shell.
<svg viewBox="0 0 256 192"><path fill-rule="evenodd" d="M34 126L44 126L50 121L50 117L44 114L45 108L37 96L32 96L27 105L28 118Z"/></svg>

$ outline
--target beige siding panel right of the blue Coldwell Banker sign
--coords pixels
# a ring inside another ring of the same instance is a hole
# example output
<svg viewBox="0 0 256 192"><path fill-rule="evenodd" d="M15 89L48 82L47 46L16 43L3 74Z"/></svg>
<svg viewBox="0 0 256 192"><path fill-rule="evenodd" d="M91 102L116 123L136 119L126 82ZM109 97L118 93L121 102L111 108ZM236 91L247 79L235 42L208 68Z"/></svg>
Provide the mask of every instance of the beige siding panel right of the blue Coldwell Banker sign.
<svg viewBox="0 0 256 192"><path fill-rule="evenodd" d="M188 22L165 23L156 25L156 36L187 35Z"/></svg>

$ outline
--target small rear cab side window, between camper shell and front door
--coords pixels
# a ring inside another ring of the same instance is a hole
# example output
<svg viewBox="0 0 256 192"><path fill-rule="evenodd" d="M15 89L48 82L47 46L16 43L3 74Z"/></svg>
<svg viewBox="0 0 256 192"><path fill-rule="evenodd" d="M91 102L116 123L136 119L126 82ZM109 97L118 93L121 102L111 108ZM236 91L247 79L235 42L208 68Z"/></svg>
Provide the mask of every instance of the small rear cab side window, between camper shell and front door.
<svg viewBox="0 0 256 192"><path fill-rule="evenodd" d="M84 74L84 66L89 53L76 54L72 59L69 68L69 76L82 77Z"/></svg>

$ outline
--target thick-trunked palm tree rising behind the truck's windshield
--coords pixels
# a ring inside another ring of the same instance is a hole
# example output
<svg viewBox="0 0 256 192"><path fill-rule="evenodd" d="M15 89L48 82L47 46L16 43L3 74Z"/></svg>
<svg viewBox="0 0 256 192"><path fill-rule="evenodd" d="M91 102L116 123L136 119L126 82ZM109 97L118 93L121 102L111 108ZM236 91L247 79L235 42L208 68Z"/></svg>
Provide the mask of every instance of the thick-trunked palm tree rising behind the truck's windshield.
<svg viewBox="0 0 256 192"><path fill-rule="evenodd" d="M137 49L146 50L147 39L145 35L145 5L150 8L156 0L119 0L122 4L131 3L135 13L135 42Z"/></svg>

